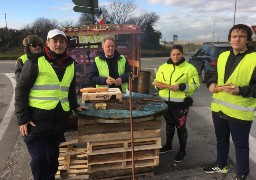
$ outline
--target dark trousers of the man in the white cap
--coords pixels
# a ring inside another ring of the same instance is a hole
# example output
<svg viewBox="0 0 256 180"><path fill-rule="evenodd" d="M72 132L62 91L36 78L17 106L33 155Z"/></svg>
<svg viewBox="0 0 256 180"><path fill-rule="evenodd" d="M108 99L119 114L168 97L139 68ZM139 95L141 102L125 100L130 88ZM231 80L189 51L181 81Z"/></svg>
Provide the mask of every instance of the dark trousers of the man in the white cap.
<svg viewBox="0 0 256 180"><path fill-rule="evenodd" d="M59 144L62 135L26 136L34 180L54 180L58 171Z"/></svg>

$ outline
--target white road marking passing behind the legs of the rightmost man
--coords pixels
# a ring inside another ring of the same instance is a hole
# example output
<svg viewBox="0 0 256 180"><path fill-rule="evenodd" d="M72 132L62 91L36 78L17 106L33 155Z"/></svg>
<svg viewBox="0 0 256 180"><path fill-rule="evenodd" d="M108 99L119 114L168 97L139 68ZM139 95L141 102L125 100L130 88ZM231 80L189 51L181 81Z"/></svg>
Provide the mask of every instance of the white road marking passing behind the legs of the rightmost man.
<svg viewBox="0 0 256 180"><path fill-rule="evenodd" d="M211 118L211 108L209 107L191 107L196 113L200 114L200 116L208 121L211 125L212 123L212 118ZM256 120L255 120L256 121ZM230 136L230 140L232 141L232 138ZM249 135L249 145L250 145L250 159L256 163L256 139Z"/></svg>

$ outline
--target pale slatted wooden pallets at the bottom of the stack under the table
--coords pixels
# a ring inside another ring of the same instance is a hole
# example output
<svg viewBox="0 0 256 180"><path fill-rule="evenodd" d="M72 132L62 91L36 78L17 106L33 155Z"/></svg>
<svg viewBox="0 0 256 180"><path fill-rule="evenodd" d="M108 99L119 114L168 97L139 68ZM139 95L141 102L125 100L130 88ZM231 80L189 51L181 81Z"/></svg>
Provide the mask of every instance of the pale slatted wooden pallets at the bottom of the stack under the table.
<svg viewBox="0 0 256 180"><path fill-rule="evenodd" d="M159 164L160 138L135 139L135 167L153 167ZM87 143L88 172L131 169L130 140Z"/></svg>

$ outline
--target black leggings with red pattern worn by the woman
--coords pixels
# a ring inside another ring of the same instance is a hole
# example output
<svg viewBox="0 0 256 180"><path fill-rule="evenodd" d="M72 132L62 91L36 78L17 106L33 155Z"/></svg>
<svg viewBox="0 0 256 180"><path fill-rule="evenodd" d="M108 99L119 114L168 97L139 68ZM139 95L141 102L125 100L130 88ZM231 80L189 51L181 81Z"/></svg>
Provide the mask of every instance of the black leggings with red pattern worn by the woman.
<svg viewBox="0 0 256 180"><path fill-rule="evenodd" d="M166 121L166 144L172 145L175 134L175 127L177 129L180 150L186 152L186 144L188 139L188 132L186 128L188 109L171 109L168 108L167 113L164 114Z"/></svg>

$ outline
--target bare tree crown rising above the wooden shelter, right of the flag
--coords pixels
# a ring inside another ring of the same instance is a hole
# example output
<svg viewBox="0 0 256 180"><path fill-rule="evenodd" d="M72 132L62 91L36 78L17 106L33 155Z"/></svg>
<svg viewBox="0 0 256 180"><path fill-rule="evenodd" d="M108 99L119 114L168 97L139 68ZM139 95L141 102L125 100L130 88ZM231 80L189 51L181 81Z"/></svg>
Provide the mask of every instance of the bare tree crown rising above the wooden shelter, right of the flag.
<svg viewBox="0 0 256 180"><path fill-rule="evenodd" d="M104 7L107 9L104 16L114 24L125 24L133 16L134 11L137 9L133 0L109 0L109 4Z"/></svg>

